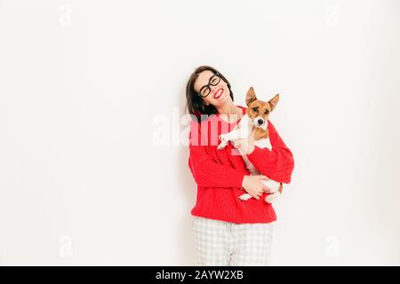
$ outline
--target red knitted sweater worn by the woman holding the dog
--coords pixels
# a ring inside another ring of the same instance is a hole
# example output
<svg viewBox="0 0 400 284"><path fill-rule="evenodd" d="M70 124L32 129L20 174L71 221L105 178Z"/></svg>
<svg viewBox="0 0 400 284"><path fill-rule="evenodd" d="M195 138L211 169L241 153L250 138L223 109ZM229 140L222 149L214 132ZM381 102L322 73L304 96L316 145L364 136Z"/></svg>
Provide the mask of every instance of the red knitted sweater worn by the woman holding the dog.
<svg viewBox="0 0 400 284"><path fill-rule="evenodd" d="M245 114L246 108L239 107ZM217 149L219 135L232 130L237 122L226 122L219 114L211 115L203 122L191 122L188 167L197 184L196 205L191 214L237 224L276 221L275 210L264 201L267 193L260 200L239 199L245 193L242 181L249 172L242 156L232 154L232 150L236 151L235 147L228 143L224 149ZM294 167L292 152L270 121L268 131L272 150L255 146L248 158L262 174L288 184Z"/></svg>

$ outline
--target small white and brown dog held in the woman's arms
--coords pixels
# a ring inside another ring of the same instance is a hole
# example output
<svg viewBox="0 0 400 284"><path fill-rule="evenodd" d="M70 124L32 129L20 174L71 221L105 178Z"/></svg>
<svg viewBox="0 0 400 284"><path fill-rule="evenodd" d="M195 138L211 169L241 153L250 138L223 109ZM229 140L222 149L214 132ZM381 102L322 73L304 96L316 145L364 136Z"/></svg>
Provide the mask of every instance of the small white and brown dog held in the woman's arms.
<svg viewBox="0 0 400 284"><path fill-rule="evenodd" d="M254 89L251 87L246 94L246 115L242 117L233 130L220 135L221 142L218 149L223 149L227 146L228 141L232 141L235 145L236 140L248 138L252 130L254 130L254 146L259 146L260 148L268 147L268 149L271 150L272 146L269 141L268 133L268 116L275 109L278 101L279 94L276 94L276 96L268 102L257 99ZM240 151L240 149L238 150L242 155L246 168L249 170L250 174L252 176L260 175L260 171L254 167L252 162L247 158L247 155ZM265 201L268 203L272 203L282 194L282 183L278 183L273 179L263 180L262 183L268 187L271 193L265 198ZM249 193L244 193L240 195L239 198L246 201L252 198L252 196Z"/></svg>

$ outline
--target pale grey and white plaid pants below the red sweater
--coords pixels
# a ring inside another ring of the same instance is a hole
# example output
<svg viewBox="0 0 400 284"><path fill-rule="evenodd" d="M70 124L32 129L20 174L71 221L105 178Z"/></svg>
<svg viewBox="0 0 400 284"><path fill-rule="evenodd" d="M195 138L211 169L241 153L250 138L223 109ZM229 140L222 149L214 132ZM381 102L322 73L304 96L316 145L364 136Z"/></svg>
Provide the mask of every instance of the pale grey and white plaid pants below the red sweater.
<svg viewBox="0 0 400 284"><path fill-rule="evenodd" d="M236 224L195 217L192 233L198 265L268 265L272 223Z"/></svg>

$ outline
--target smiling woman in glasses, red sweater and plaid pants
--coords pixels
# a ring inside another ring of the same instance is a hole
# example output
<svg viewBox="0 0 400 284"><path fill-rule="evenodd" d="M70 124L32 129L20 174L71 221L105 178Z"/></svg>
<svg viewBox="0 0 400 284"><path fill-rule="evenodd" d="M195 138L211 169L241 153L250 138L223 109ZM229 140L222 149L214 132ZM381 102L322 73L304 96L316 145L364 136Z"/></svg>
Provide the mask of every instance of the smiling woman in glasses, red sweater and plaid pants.
<svg viewBox="0 0 400 284"><path fill-rule="evenodd" d="M268 188L261 180L290 183L292 152L268 122L271 150L253 146L252 137L235 144L245 146L249 160L263 174L250 176L235 146L217 149L219 135L232 130L246 114L245 107L234 104L228 80L213 67L197 67L186 96L193 118L188 166L197 183L191 210L197 264L267 265L276 214L264 201ZM253 198L241 201L244 191Z"/></svg>

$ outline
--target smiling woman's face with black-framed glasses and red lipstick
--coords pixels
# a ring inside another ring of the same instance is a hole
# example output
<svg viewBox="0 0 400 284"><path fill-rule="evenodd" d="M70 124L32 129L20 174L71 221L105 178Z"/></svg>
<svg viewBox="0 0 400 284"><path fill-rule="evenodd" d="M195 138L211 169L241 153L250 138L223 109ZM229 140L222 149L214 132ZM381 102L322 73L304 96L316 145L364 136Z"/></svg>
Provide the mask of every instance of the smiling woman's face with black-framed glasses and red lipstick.
<svg viewBox="0 0 400 284"><path fill-rule="evenodd" d="M210 82L210 79L212 79L212 82ZM206 97L202 97L205 105L207 106L210 104L216 107L222 106L229 99L231 99L229 96L227 83L225 83L224 80L220 79L220 82L213 86L212 84L215 84L216 82L218 82L218 78L214 76L214 73L210 70L204 70L203 72L201 72L195 81L194 89L197 93L201 91L201 94L205 95L207 93L206 89L210 89L209 94ZM208 88L204 87L207 85Z"/></svg>

